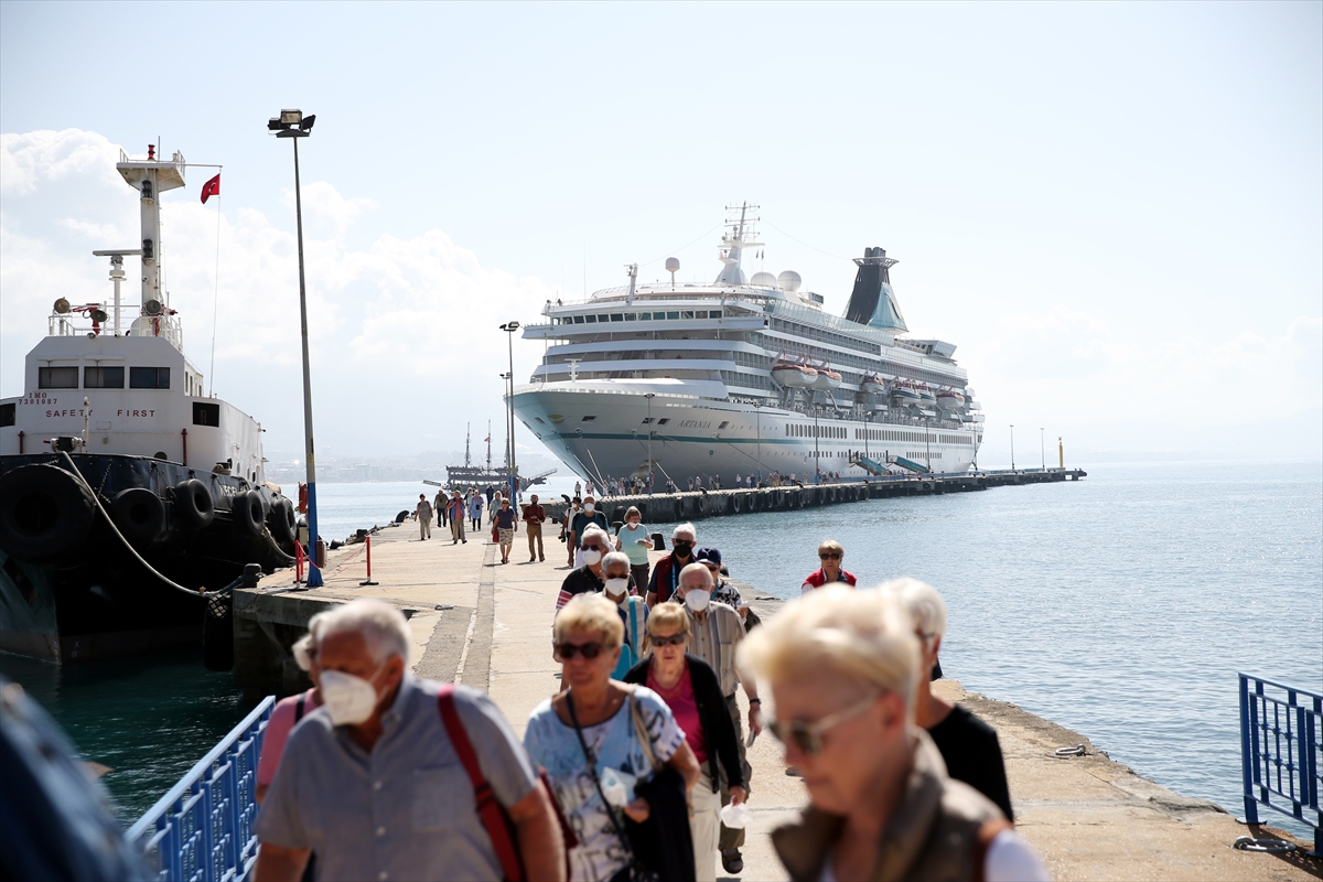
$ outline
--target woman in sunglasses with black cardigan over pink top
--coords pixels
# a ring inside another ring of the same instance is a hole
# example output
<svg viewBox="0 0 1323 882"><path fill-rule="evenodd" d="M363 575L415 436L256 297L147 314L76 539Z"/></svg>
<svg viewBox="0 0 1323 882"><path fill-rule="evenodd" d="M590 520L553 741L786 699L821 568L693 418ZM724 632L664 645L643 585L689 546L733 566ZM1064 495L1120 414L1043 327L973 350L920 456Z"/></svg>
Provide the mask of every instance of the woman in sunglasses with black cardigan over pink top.
<svg viewBox="0 0 1323 882"><path fill-rule="evenodd" d="M721 832L721 775L725 770L730 785L730 803L745 800L744 770L734 723L721 694L721 680L701 659L688 655L689 615L679 603L662 603L648 619L648 641L652 655L624 676L626 682L646 685L662 697L675 721L684 730L684 739L704 767L691 804L693 816L693 860L697 882L717 878L717 840Z"/></svg>

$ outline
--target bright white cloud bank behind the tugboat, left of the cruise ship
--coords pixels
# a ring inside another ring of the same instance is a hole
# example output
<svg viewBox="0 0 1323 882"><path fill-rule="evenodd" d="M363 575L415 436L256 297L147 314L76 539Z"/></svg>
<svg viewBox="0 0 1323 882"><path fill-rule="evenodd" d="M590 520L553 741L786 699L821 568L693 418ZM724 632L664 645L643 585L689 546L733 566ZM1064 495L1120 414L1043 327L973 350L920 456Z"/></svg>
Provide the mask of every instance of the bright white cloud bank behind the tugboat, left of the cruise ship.
<svg viewBox="0 0 1323 882"><path fill-rule="evenodd" d="M22 358L45 332L56 298L71 291L79 301L110 298L106 267L90 251L136 238L124 226L136 210L114 172L118 148L94 132L4 136L0 163L19 176L7 181L0 213L0 394L20 391ZM103 167L114 188L102 186ZM50 198L56 179L81 190L61 186ZM85 196L77 204L65 201L78 192ZM216 393L263 422L269 448L294 451L302 447L303 411L292 190L286 201L282 223L222 204L217 239L214 201L204 206L167 194L161 249L189 358L210 373L214 298ZM319 448L411 451L423 434L458 447L466 421L503 414L497 374L507 369L507 352L497 325L532 320L550 288L484 267L442 230L409 239L384 234L366 249L351 247L347 231L372 208L327 182L304 185ZM136 290L126 294L136 303ZM516 374L527 377L538 354L516 342Z"/></svg>

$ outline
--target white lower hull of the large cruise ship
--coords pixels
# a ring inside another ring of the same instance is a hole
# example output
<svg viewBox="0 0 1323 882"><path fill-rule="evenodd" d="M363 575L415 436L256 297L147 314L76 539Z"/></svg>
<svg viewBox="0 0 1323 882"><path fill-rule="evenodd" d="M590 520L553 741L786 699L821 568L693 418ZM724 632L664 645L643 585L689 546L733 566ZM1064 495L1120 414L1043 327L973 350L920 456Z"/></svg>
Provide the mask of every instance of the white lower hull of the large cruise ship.
<svg viewBox="0 0 1323 882"><path fill-rule="evenodd" d="M648 385L651 386L651 385ZM651 390L651 389L647 389ZM773 471L814 480L819 472L864 477L851 454L878 461L902 456L930 463L934 472L963 472L978 451L975 428L818 419L777 407L685 394L605 387L579 381L534 383L515 390L515 414L569 469L593 479L643 477L648 472L648 427L656 481L680 487L713 476L732 487L736 475ZM585 421L585 418L591 418ZM652 423L644 421L652 419ZM662 423L660 421L667 421ZM807 476L807 477L806 477Z"/></svg>

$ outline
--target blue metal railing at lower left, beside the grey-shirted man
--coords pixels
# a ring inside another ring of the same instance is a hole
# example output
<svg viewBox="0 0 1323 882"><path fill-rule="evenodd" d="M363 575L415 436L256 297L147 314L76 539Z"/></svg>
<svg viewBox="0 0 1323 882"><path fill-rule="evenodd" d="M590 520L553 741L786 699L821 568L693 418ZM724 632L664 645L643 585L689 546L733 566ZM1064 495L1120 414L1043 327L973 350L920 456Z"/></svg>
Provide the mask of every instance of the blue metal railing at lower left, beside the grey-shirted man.
<svg viewBox="0 0 1323 882"><path fill-rule="evenodd" d="M257 759L267 696L126 834L160 882L242 882L257 862Z"/></svg>

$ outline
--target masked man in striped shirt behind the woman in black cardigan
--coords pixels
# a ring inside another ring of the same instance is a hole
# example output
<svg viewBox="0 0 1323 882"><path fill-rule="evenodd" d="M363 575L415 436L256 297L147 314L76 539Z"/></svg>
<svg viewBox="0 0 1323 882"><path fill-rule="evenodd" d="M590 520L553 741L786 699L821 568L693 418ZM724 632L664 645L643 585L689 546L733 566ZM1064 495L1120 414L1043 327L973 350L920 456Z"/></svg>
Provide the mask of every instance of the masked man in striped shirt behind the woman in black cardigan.
<svg viewBox="0 0 1323 882"><path fill-rule="evenodd" d="M762 730L757 713L762 702L758 700L757 682L753 680L741 682L740 672L736 670L736 648L745 636L744 619L725 603L714 603L713 591L714 584L708 567L703 563L691 563L680 571L675 600L683 603L689 614L689 655L706 661L721 678L721 694L725 696L730 722L734 723L736 737L740 741L740 766L744 768L745 789L751 791L749 782L753 768L745 758L744 725L740 719L736 686L742 685L745 696L749 697L749 729L755 734ZM722 776L721 804L728 803L730 803L730 787ZM738 874L744 870L744 858L740 856L744 841L744 828L730 829L725 824L721 825L721 866L726 873Z"/></svg>

